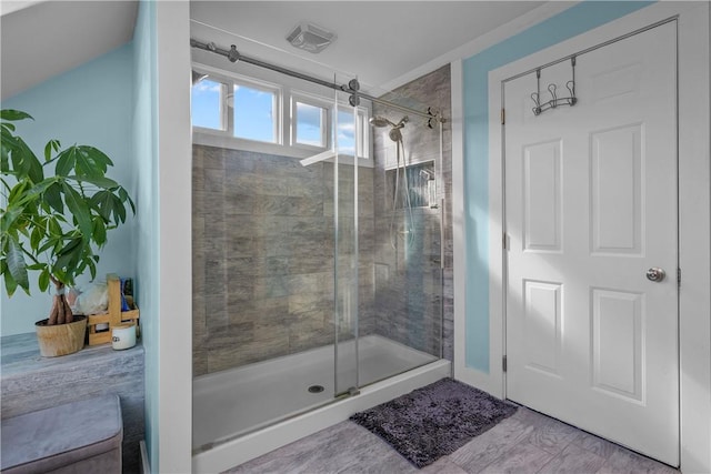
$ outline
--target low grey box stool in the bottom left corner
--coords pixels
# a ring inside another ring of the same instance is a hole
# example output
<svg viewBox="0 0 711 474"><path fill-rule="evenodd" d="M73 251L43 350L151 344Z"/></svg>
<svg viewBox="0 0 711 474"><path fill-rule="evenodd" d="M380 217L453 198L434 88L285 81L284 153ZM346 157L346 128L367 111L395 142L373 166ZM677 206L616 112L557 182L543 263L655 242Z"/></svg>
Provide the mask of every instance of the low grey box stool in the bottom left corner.
<svg viewBox="0 0 711 474"><path fill-rule="evenodd" d="M123 422L117 395L2 420L2 474L121 473Z"/></svg>

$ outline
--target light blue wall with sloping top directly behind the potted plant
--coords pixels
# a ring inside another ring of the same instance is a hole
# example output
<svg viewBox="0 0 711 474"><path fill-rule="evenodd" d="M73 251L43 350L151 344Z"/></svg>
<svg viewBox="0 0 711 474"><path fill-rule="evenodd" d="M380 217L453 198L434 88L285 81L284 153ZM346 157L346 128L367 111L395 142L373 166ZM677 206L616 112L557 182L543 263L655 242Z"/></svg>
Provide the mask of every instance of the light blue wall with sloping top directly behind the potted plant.
<svg viewBox="0 0 711 474"><path fill-rule="evenodd" d="M133 52L121 47L69 72L2 101L3 109L28 112L34 121L18 123L30 148L43 155L44 144L59 139L62 145L91 144L104 151L114 163L109 175L131 190L134 188L131 159L131 102ZM100 252L98 279L106 273L136 275L136 221L108 235L108 244ZM33 275L37 279L37 274ZM87 283L89 276L78 280ZM32 282L31 296L18 290L8 297L2 288L2 335L34 332L34 322L48 316L51 296L43 294Z"/></svg>

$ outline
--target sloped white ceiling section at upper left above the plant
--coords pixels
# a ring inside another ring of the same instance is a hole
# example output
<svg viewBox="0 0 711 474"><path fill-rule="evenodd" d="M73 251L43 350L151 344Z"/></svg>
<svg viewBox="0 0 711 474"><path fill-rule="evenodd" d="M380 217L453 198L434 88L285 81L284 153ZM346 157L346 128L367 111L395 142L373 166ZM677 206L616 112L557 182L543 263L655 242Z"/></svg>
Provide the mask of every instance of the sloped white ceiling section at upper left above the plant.
<svg viewBox="0 0 711 474"><path fill-rule="evenodd" d="M0 8L2 99L127 43L138 13L136 0L1 0Z"/></svg>

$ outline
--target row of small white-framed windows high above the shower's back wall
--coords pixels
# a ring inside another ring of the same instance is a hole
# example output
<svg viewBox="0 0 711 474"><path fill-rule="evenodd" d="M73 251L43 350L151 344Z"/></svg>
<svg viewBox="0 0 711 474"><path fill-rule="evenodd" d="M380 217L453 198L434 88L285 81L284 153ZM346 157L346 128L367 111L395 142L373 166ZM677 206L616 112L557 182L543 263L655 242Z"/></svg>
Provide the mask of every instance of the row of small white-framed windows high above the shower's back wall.
<svg viewBox="0 0 711 474"><path fill-rule="evenodd" d="M354 114L346 97L336 107L322 87L273 74L248 78L193 64L193 78L201 78L191 91L193 141L294 158L336 149L372 167L361 161L370 157L367 107Z"/></svg>

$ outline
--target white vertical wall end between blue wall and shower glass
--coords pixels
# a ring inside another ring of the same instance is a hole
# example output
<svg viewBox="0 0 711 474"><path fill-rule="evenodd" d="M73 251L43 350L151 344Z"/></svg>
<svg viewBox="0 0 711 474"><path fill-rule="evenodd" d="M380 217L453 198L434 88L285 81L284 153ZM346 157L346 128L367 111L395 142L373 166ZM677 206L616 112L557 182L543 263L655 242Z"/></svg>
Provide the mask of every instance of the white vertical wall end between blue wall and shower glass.
<svg viewBox="0 0 711 474"><path fill-rule="evenodd" d="M159 467L192 466L190 3L156 2L159 185Z"/></svg>

